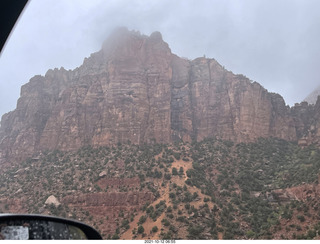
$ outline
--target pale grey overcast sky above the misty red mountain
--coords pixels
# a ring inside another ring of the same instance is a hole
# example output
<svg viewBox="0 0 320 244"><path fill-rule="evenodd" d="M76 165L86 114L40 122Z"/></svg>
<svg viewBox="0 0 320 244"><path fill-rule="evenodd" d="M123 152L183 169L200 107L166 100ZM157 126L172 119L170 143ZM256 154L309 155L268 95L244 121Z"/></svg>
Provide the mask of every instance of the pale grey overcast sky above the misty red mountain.
<svg viewBox="0 0 320 244"><path fill-rule="evenodd" d="M214 58L290 106L320 85L318 0L31 0L0 57L0 116L30 78L80 66L118 26L160 31L173 53Z"/></svg>

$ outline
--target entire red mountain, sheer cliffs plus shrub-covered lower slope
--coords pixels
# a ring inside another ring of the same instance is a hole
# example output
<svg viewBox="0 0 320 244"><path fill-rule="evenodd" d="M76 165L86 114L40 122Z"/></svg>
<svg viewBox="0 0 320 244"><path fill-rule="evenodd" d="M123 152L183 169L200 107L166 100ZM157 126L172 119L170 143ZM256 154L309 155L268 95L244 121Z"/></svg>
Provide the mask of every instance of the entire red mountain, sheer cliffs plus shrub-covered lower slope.
<svg viewBox="0 0 320 244"><path fill-rule="evenodd" d="M0 126L0 212L105 239L320 239L320 99L119 28L74 70L21 88Z"/></svg>

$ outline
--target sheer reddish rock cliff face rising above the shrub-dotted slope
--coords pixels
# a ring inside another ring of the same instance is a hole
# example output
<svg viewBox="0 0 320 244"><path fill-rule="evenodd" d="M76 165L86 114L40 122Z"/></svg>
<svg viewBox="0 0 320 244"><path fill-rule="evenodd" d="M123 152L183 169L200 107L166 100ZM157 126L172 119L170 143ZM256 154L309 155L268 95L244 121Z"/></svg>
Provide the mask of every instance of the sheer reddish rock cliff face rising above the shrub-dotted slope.
<svg viewBox="0 0 320 244"><path fill-rule="evenodd" d="M2 117L0 160L128 140L297 140L319 117L319 104L300 107L292 112L280 95L214 59L177 57L158 32L121 28L79 68L49 70L21 88L16 110Z"/></svg>

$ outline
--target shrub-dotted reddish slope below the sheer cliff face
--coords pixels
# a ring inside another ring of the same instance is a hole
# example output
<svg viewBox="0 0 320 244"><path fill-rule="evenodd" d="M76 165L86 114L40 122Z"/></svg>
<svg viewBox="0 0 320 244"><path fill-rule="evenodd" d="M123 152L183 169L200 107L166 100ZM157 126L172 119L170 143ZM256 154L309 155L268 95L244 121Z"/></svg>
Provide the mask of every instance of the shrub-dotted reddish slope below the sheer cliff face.
<svg viewBox="0 0 320 244"><path fill-rule="evenodd" d="M2 169L0 210L81 220L106 239L319 239L319 158L272 138L48 151Z"/></svg>

